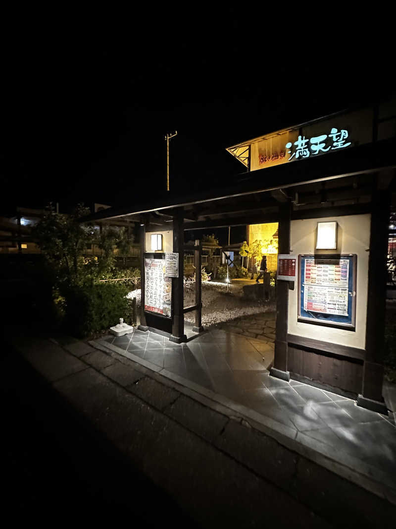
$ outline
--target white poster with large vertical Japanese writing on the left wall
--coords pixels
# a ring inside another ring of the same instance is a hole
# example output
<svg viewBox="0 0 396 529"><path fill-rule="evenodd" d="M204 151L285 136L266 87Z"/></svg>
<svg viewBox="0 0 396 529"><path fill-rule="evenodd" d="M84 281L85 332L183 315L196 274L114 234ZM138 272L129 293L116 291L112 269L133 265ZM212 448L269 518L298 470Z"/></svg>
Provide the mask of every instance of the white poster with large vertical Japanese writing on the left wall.
<svg viewBox="0 0 396 529"><path fill-rule="evenodd" d="M145 259L145 311L171 317L172 280L165 276L165 259Z"/></svg>

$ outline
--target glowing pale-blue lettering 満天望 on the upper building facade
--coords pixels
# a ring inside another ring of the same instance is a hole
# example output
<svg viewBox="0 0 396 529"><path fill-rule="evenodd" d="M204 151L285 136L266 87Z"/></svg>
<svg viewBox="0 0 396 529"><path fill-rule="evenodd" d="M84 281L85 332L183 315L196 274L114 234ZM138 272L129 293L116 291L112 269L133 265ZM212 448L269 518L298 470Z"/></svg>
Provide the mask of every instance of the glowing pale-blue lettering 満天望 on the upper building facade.
<svg viewBox="0 0 396 529"><path fill-rule="evenodd" d="M332 142L332 144L326 145L326 139L332 138L332 140L329 140ZM344 147L348 147L348 145L351 145L351 142L345 143L345 140L348 138L348 131L345 129L342 129L341 131L338 131L338 129L332 128L330 134L322 134L320 136L313 136L312 138L305 138L305 136L298 136L298 140L294 143L291 143L291 141L286 143L286 149L288 150L288 154L291 154L288 161L290 161L293 157L296 157L296 160L298 158L308 158L310 154L319 154L320 152L327 152L328 150L336 150L336 149L342 149ZM295 145L296 149L292 152L292 147Z"/></svg>

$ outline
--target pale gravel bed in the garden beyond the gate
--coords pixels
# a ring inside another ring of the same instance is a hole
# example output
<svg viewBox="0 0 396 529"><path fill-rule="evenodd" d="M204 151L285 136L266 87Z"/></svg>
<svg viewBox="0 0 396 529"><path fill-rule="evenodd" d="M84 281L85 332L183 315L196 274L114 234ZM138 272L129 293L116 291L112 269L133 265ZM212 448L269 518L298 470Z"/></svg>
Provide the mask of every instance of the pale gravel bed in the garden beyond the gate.
<svg viewBox="0 0 396 529"><path fill-rule="evenodd" d="M184 306L194 304L194 288L194 284L185 286ZM140 289L131 291L127 297L136 297L136 303L140 306ZM244 298L242 288L239 285L230 285L227 293L226 284L219 282L202 283L202 325L205 327L228 322L241 316L274 311L275 303ZM185 320L194 323L194 312L187 313Z"/></svg>

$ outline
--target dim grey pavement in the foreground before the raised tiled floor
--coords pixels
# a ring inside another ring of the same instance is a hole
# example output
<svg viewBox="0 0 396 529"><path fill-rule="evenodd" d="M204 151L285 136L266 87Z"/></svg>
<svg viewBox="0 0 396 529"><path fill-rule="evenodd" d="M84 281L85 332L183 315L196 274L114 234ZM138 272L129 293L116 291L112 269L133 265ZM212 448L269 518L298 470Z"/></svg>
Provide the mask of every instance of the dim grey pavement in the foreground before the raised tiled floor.
<svg viewBox="0 0 396 529"><path fill-rule="evenodd" d="M351 458L337 461L315 440L298 442L270 417L102 344L9 340L201 526L387 527L394 520L388 476L366 475Z"/></svg>

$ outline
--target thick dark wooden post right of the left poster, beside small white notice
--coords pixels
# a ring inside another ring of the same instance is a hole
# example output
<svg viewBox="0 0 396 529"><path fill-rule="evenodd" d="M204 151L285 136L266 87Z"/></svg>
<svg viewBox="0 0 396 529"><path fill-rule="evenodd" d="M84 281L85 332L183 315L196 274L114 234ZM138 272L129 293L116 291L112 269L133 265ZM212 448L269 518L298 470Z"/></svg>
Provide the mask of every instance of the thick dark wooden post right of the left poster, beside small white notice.
<svg viewBox="0 0 396 529"><path fill-rule="evenodd" d="M171 342L182 343L187 341L184 334L184 284L183 284L183 208L177 209L173 216L173 251L178 253L178 276L173 278L173 322Z"/></svg>

